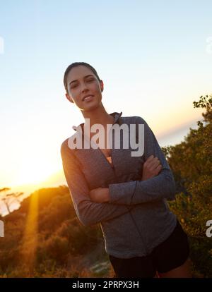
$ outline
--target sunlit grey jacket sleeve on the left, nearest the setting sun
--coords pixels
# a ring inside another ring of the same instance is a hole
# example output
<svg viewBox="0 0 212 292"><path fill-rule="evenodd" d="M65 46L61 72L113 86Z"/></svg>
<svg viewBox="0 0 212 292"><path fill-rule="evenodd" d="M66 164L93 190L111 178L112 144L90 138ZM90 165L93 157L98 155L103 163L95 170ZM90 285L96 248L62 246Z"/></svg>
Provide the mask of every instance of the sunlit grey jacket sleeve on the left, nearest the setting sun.
<svg viewBox="0 0 212 292"><path fill-rule="evenodd" d="M61 145L61 159L73 207L81 224L91 226L129 212L131 209L129 206L113 205L109 202L98 203L90 200L88 183L66 140Z"/></svg>

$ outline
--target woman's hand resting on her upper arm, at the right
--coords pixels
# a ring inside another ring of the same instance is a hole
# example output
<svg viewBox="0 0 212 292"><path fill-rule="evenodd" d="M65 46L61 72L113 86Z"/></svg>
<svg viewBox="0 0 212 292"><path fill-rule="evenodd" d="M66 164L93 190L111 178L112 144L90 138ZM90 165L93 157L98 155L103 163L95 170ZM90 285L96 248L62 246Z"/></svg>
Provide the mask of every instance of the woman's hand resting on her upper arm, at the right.
<svg viewBox="0 0 212 292"><path fill-rule="evenodd" d="M141 181L146 181L148 178L158 176L161 169L162 166L158 157L154 157L153 155L151 155L150 157L148 157L148 159L146 159L146 162L144 162L143 164Z"/></svg>

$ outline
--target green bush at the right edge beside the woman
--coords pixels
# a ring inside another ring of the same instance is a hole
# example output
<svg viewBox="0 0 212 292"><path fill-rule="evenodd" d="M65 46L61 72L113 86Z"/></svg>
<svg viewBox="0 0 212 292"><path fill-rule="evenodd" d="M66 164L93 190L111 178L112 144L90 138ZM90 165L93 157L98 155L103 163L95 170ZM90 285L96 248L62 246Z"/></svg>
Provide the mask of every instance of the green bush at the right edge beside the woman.
<svg viewBox="0 0 212 292"><path fill-rule="evenodd" d="M199 128L163 150L178 190L169 205L189 235L194 276L212 277L212 238L206 237L206 221L212 219L212 98L201 97L194 107L206 109Z"/></svg>

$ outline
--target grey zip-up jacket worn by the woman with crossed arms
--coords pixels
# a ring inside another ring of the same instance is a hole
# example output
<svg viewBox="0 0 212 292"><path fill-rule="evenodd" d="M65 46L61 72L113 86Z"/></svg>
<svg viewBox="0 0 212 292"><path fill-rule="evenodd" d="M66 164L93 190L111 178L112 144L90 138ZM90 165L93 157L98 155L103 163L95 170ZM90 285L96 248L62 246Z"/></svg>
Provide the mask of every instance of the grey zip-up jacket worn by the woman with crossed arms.
<svg viewBox="0 0 212 292"><path fill-rule="evenodd" d="M61 144L64 174L79 221L84 226L100 223L106 253L120 258L146 256L170 236L177 224L166 202L175 199L175 180L146 121L140 116L123 117L122 112L111 115L113 124L125 123L129 130L130 124L144 124L143 155L132 157L131 147L115 149L112 145L110 164L99 148L71 149L67 138ZM75 128L72 139L83 124ZM163 167L158 176L141 181L143 163L151 154ZM90 200L90 190L100 187L109 188L109 202Z"/></svg>

